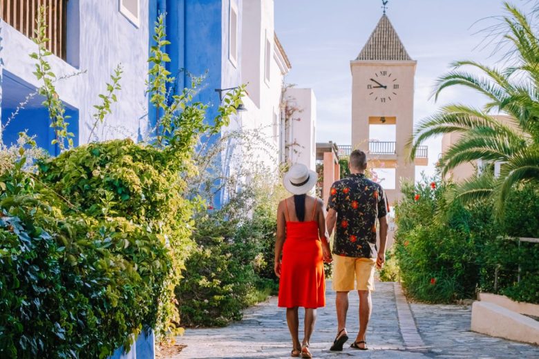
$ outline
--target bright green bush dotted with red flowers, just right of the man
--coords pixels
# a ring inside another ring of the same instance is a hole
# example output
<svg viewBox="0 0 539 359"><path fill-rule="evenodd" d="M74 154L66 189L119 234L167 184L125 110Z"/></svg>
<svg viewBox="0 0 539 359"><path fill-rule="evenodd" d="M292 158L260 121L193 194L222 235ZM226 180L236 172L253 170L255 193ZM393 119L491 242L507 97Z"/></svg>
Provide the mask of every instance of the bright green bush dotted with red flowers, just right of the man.
<svg viewBox="0 0 539 359"><path fill-rule="evenodd" d="M466 209L448 204L444 198L448 186L434 179L406 184L395 208L401 280L409 295L425 302L475 295L481 249L493 233L489 206Z"/></svg>

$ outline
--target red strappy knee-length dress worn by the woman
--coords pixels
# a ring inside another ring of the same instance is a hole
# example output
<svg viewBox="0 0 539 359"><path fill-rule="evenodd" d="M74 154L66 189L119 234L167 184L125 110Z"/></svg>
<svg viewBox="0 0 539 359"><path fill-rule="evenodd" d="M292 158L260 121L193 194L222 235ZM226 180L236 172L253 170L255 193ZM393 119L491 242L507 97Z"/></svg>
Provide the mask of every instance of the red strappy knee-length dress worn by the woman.
<svg viewBox="0 0 539 359"><path fill-rule="evenodd" d="M285 201L286 204L286 201ZM325 306L325 277L318 222L286 222L278 307ZM286 205L288 214L288 205ZM287 215L290 220L290 215Z"/></svg>

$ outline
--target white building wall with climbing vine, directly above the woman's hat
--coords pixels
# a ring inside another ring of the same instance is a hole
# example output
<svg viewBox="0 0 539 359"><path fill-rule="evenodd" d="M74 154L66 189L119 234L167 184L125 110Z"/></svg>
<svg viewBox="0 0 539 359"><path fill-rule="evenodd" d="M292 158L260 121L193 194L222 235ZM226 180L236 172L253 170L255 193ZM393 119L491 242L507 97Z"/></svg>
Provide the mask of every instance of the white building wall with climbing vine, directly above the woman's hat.
<svg viewBox="0 0 539 359"><path fill-rule="evenodd" d="M288 158L316 171L316 97L312 88L287 88L285 99L299 110L290 121Z"/></svg>

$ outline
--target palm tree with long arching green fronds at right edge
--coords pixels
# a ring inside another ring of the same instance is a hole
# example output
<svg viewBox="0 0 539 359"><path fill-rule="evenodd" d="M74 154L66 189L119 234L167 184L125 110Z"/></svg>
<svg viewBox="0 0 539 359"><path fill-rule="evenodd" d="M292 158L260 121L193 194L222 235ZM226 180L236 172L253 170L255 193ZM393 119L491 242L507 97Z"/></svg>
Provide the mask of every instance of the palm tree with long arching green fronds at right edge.
<svg viewBox="0 0 539 359"><path fill-rule="evenodd" d="M500 176L476 175L455 188L455 199L463 202L491 197L497 213L516 185L539 182L539 34L529 19L515 6L504 3L503 41L511 46L514 66L493 68L475 61L457 61L453 70L442 76L434 91L450 86L465 86L486 96L483 108L460 104L444 106L416 126L408 142L410 159L426 139L445 133L460 133L460 139L442 154L442 175L460 164L482 159L501 162ZM466 71L479 70L480 75ZM504 124L494 117L511 117Z"/></svg>

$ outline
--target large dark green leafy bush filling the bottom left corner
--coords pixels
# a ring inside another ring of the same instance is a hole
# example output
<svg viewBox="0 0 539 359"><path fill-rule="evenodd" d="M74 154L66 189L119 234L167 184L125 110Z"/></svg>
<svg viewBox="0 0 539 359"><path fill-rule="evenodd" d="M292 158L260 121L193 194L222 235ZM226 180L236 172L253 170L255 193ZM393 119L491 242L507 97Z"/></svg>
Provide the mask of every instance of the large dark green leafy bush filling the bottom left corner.
<svg viewBox="0 0 539 359"><path fill-rule="evenodd" d="M129 347L155 326L169 250L144 226L65 211L34 177L0 176L0 356L102 358Z"/></svg>

